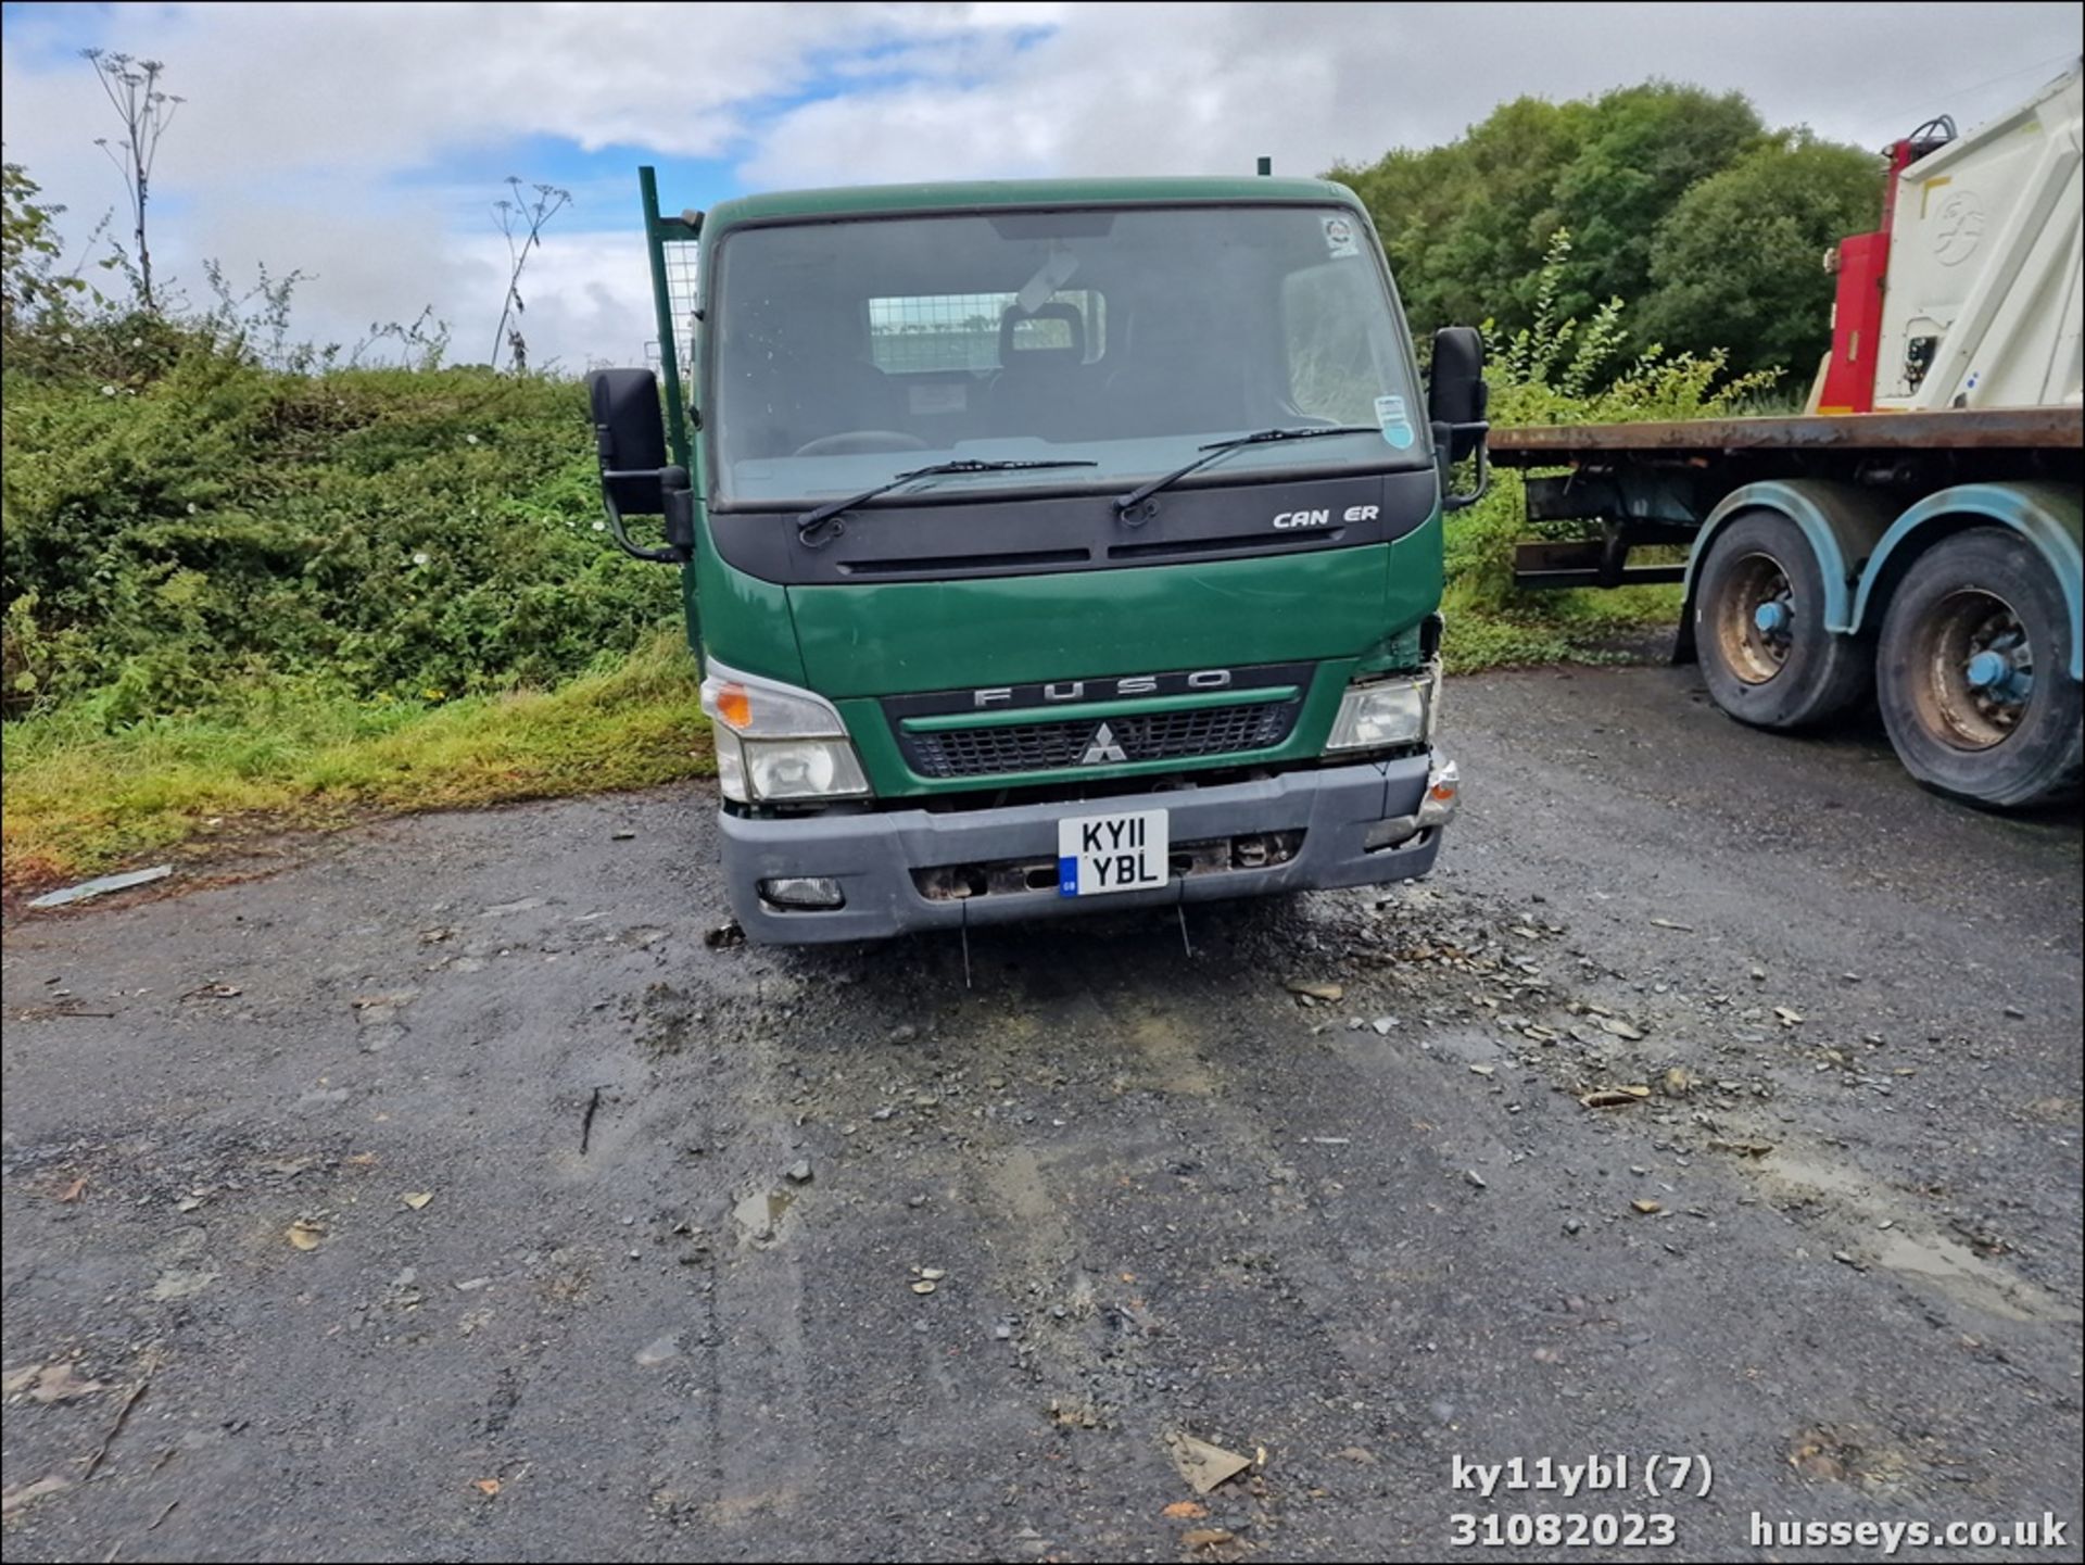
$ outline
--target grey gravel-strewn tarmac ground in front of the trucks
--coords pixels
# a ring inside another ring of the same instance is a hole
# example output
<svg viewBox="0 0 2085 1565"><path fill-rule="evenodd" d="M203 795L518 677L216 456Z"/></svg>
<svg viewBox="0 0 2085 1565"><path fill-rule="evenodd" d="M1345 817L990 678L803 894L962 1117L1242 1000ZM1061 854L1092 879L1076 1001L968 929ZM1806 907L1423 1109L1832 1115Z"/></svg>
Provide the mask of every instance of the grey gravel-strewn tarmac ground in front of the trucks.
<svg viewBox="0 0 2085 1565"><path fill-rule="evenodd" d="M6 1557L2079 1559L2075 813L1674 669L1464 679L1447 742L1432 881L967 988L707 944L698 790L17 919Z"/></svg>

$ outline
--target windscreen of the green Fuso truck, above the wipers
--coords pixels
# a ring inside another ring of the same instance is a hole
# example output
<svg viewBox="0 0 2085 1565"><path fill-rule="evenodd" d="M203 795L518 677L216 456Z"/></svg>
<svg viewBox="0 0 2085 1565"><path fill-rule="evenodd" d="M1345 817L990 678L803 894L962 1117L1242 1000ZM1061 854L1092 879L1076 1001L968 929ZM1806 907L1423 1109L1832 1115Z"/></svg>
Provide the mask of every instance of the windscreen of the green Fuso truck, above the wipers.
<svg viewBox="0 0 2085 1565"><path fill-rule="evenodd" d="M1270 427L1255 469L1420 465L1403 331L1339 206L899 217L734 231L709 308L719 504L817 502L942 461L1093 467L934 494L1122 486Z"/></svg>

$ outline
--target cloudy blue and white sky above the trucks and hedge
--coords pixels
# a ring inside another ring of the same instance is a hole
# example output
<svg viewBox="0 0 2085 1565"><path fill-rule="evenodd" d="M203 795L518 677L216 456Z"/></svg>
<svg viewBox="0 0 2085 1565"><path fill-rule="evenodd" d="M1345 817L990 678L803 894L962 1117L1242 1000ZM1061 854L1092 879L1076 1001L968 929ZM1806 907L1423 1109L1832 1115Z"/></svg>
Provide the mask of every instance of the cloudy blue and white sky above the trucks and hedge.
<svg viewBox="0 0 2085 1565"><path fill-rule="evenodd" d="M494 346L507 175L571 192L521 292L534 363L642 363L636 167L661 202L894 179L1311 175L1453 140L1520 94L1645 77L1881 146L1966 129L2079 52L2056 4L4 4L0 140L75 254L127 198L79 50L165 63L161 275L306 281L300 338L423 306Z"/></svg>

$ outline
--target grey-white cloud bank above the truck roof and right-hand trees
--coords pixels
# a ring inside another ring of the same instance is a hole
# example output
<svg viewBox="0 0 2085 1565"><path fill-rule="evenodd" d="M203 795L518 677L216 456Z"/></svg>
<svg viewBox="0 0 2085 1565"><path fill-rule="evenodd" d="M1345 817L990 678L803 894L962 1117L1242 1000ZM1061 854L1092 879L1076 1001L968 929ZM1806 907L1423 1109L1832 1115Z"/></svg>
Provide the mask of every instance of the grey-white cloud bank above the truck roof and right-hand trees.
<svg viewBox="0 0 2085 1565"><path fill-rule="evenodd" d="M790 110L744 173L759 185L1243 173L1261 154L1318 173L1449 140L1507 98L1653 75L1735 88L1770 123L1879 146L1945 108L1964 125L1997 113L2066 50L2072 4L1910 4L1887 25L1826 6L1080 6L986 79ZM2002 73L2014 75L1987 83Z"/></svg>

